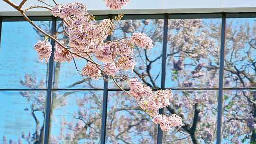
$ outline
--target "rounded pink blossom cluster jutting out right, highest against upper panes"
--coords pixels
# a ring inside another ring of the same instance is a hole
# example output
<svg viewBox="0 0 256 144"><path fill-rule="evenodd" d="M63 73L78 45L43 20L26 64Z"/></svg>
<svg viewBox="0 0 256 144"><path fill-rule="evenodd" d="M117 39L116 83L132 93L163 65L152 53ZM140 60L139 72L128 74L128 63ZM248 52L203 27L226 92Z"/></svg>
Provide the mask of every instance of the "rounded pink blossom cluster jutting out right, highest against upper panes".
<svg viewBox="0 0 256 144"><path fill-rule="evenodd" d="M139 47L146 49L151 49L153 47L151 38L146 36L144 33L133 33L131 42Z"/></svg>

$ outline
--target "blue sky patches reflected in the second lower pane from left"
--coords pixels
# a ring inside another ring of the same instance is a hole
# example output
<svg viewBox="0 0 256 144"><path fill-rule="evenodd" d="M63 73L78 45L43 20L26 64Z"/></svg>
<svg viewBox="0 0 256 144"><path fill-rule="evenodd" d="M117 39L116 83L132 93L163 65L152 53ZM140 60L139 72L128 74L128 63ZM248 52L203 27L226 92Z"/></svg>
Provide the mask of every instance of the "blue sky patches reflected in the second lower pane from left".
<svg viewBox="0 0 256 144"><path fill-rule="evenodd" d="M69 93L70 91L55 91L54 93L57 95L57 98L62 97L65 93ZM94 99L91 95L92 93L89 91L76 91L74 93L69 94L64 103L67 103L67 105L65 106L60 106L61 103L55 103L56 107L57 105L59 105L57 108L54 109L53 111L53 117L52 117L52 124L51 124L51 135L52 136L60 136L61 133L61 121L64 122L73 122L73 127L75 127L76 123L79 121L78 119L74 119L73 116L78 117L78 111L79 111L79 106L77 105L77 99L87 99L87 101L85 102L85 105L82 107L82 110L84 111L84 113L86 113L86 117L83 118L85 120L85 122L89 122L93 117L96 117L98 114L101 115L101 111L102 108L99 107L98 105L96 105L96 100L100 102L100 104L102 105L102 99L103 99L103 91L94 91L93 92L96 97L98 99ZM99 121L101 123L101 117L99 118ZM93 123L91 125L91 127L96 128L97 132L100 133L101 129L99 129L97 126L94 125L95 123ZM64 136L68 135L68 134L72 134L73 130L70 130L68 128L69 126L66 125L65 126L65 132L64 132ZM78 144L84 144L84 142L92 142L93 138L90 138L90 127L88 128L86 135L87 137L89 137L88 139L85 140L80 140ZM93 142L95 144L99 143L100 141L100 135L98 135L98 139L94 139Z"/></svg>

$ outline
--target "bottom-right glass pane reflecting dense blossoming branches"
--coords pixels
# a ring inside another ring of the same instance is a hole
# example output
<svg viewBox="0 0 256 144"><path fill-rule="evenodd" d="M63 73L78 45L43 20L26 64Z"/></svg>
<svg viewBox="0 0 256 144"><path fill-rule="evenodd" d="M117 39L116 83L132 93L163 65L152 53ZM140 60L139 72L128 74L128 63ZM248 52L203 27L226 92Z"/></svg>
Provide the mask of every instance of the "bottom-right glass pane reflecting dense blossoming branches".
<svg viewBox="0 0 256 144"><path fill-rule="evenodd" d="M256 143L256 91L225 90L222 144Z"/></svg>

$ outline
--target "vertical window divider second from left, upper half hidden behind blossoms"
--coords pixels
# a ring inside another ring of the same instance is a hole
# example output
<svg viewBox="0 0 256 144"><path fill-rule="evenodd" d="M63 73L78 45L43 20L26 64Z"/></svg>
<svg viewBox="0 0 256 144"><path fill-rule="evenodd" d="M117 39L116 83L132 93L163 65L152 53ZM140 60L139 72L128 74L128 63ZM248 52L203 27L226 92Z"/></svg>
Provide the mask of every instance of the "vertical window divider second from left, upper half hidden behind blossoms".
<svg viewBox="0 0 256 144"><path fill-rule="evenodd" d="M112 15L108 15L108 18L112 18ZM111 36L107 37L107 41L111 40ZM109 77L104 75L104 91L102 101L102 117L101 117L101 144L105 144L106 140L106 126L107 126L107 108L108 108L108 80Z"/></svg>

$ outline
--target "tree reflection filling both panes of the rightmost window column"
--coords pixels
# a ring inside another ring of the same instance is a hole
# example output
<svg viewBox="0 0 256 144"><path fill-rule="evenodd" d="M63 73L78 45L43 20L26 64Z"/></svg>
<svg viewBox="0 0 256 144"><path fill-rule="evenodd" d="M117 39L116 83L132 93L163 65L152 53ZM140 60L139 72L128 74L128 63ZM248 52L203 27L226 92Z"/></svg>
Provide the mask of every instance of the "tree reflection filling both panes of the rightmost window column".
<svg viewBox="0 0 256 144"><path fill-rule="evenodd" d="M248 20L248 21L247 21ZM239 23L239 24L238 24ZM226 31L226 86L256 85L256 26L252 18L232 19ZM230 96L231 97L230 97ZM227 91L223 136L232 143L256 143L256 92ZM229 126L235 127L229 127Z"/></svg>

